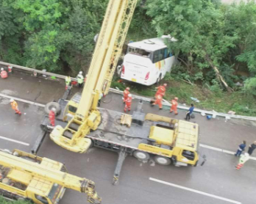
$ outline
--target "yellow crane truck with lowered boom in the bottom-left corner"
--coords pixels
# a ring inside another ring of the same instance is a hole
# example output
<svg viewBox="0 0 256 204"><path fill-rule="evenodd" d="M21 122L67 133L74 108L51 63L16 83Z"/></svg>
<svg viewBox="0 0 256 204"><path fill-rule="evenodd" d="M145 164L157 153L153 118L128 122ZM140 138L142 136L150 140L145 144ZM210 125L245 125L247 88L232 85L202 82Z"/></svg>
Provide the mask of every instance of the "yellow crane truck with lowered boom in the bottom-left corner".
<svg viewBox="0 0 256 204"><path fill-rule="evenodd" d="M57 204L65 189L87 194L88 203L101 203L94 182L68 174L64 164L21 150L0 150L0 194L7 199Z"/></svg>

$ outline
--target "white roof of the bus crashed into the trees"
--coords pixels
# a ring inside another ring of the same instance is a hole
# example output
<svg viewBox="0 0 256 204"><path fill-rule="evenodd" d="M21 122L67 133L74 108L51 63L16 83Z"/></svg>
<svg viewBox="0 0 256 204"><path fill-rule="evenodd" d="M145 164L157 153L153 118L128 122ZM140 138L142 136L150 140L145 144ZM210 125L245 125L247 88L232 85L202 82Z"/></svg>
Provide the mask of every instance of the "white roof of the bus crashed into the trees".
<svg viewBox="0 0 256 204"><path fill-rule="evenodd" d="M146 51L157 51L166 48L164 40L169 39L171 41L177 41L174 37L156 37L152 39L141 40L134 43L129 43L128 46L132 48L140 48Z"/></svg>

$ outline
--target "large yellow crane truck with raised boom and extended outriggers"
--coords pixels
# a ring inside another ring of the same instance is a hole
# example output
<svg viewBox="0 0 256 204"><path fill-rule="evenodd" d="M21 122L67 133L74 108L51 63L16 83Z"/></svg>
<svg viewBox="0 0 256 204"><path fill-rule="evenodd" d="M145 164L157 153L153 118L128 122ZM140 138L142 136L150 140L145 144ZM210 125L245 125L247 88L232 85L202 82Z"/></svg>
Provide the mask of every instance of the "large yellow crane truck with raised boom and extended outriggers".
<svg viewBox="0 0 256 204"><path fill-rule="evenodd" d="M118 183L127 155L143 161L154 156L157 164L175 166L196 166L199 160L196 123L143 114L142 102L132 115L97 108L99 95L109 90L136 3L137 0L109 1L82 95L74 95L65 105L74 117L53 130L47 120L41 125L47 127L43 129L50 132L57 145L67 150L85 153L95 146L117 152L113 184Z"/></svg>

